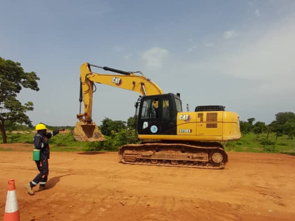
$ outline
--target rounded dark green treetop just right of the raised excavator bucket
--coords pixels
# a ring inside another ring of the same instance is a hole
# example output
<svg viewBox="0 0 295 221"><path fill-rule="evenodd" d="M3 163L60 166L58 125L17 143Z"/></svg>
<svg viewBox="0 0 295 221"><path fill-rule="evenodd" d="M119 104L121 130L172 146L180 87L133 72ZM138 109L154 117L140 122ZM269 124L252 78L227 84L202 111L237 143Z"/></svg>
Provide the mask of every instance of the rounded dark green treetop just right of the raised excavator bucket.
<svg viewBox="0 0 295 221"><path fill-rule="evenodd" d="M111 136L113 133L118 133L121 129L126 128L125 121L113 121L110 118L105 117L99 127L102 134L106 136Z"/></svg>

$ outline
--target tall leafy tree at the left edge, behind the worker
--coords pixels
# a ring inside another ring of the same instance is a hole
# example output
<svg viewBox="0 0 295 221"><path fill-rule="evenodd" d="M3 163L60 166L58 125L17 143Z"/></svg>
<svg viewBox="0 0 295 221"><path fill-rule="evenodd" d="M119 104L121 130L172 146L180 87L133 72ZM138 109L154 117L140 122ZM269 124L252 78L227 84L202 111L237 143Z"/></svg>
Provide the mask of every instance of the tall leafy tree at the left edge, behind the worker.
<svg viewBox="0 0 295 221"><path fill-rule="evenodd" d="M5 60L0 57L0 130L3 143L7 143L7 126L14 124L26 124L32 122L26 112L33 110L33 103L28 101L24 105L16 99L22 88L30 88L38 91L37 77L35 72L24 72L19 62Z"/></svg>

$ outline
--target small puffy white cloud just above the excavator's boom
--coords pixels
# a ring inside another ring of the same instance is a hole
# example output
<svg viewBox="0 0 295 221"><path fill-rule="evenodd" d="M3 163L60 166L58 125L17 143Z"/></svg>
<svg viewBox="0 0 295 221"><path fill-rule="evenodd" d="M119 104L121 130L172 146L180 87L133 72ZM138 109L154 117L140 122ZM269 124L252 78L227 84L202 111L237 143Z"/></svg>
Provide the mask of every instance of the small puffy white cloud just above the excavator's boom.
<svg viewBox="0 0 295 221"><path fill-rule="evenodd" d="M160 68L166 57L168 57L169 51L164 48L153 47L142 53L141 57L145 66L151 68Z"/></svg>

